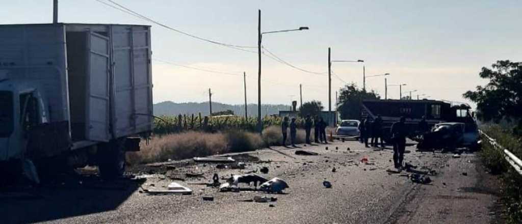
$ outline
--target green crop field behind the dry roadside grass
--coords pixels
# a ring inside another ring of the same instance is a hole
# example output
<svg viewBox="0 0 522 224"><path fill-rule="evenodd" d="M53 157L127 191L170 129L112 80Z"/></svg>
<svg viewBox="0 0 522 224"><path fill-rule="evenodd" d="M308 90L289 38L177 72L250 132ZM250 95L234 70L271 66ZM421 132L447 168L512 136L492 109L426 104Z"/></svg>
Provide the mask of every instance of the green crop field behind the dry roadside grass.
<svg viewBox="0 0 522 224"><path fill-rule="evenodd" d="M281 117L266 116L263 118L263 127L281 125ZM304 120L296 120L298 128L302 128ZM257 130L257 117L248 117L245 120L240 116L213 116L201 117L198 115L160 116L155 118L154 133L158 135L179 133L184 131L217 132L228 130Z"/></svg>

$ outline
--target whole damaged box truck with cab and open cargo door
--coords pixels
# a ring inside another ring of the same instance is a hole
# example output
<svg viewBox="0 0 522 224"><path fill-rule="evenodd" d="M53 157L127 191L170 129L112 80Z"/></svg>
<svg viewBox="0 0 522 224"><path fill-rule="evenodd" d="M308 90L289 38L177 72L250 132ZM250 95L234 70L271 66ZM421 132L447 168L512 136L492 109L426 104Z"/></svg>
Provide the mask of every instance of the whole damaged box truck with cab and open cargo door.
<svg viewBox="0 0 522 224"><path fill-rule="evenodd" d="M98 165L120 176L152 114L149 26L0 25L5 169L29 160L37 170Z"/></svg>

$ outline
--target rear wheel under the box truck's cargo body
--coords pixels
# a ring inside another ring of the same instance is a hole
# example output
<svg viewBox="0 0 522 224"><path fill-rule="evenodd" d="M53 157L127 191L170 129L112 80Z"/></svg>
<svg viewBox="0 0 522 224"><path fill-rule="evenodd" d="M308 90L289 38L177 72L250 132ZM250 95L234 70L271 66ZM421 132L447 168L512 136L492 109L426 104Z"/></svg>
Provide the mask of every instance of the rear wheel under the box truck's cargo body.
<svg viewBox="0 0 522 224"><path fill-rule="evenodd" d="M101 144L97 152L98 169L103 179L115 179L125 172L125 138Z"/></svg>

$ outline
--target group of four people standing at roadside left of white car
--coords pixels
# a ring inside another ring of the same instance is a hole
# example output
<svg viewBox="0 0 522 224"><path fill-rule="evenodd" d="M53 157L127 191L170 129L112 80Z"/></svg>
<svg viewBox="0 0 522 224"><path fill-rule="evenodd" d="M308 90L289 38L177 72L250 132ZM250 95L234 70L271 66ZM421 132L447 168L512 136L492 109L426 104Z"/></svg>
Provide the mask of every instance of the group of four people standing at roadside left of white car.
<svg viewBox="0 0 522 224"><path fill-rule="evenodd" d="M282 145L287 145L287 133L288 128L290 128L290 144L295 147L295 138L297 137L297 124L295 123L296 119L290 119L290 123L288 122L288 117L283 118L283 122L281 122L281 133L283 135ZM326 140L326 127L328 127L328 123L326 123L322 117L315 116L312 120L310 115L307 115L304 120L304 130L306 132L306 143L312 144L311 141L311 133L312 128L314 128L314 142L315 143L328 143Z"/></svg>

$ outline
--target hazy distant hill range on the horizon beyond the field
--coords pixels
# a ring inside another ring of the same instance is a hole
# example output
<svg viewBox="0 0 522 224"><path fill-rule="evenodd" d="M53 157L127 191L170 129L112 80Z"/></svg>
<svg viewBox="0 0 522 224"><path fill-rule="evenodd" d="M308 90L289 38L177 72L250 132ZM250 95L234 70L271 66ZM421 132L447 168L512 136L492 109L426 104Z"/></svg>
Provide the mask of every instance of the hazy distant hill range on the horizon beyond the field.
<svg viewBox="0 0 522 224"><path fill-rule="evenodd" d="M245 105L230 105L212 102L212 113L223 110L232 110L235 115L245 115ZM248 104L248 116L257 116L257 104ZM279 114L279 110L290 110L290 105L283 104L264 104L261 108L261 115L265 116ZM179 114L198 114L202 116L209 115L208 102L202 103L174 103L172 101L165 101L154 104L154 115L179 115Z"/></svg>

